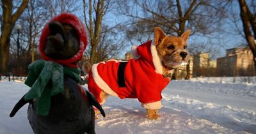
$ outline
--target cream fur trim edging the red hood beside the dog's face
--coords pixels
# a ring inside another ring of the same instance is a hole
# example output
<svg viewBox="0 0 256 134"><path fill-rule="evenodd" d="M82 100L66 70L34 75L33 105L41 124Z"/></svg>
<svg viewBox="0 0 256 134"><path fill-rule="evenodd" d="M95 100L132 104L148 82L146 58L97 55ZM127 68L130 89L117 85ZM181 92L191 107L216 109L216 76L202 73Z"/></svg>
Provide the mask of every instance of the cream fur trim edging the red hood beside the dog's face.
<svg viewBox="0 0 256 134"><path fill-rule="evenodd" d="M151 43L150 50L151 50L151 54L152 54L153 64L156 68L156 73L163 75L163 65L160 61L160 57L157 54L156 45L154 44L154 41L152 41L152 43Z"/></svg>

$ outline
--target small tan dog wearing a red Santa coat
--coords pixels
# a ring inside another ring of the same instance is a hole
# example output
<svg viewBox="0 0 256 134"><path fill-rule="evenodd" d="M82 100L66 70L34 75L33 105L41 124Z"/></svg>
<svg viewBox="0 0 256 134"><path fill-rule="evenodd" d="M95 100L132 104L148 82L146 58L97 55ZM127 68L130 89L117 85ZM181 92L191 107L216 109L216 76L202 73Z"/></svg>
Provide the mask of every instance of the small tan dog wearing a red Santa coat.
<svg viewBox="0 0 256 134"><path fill-rule="evenodd" d="M107 61L93 64L88 89L102 105L108 95L138 98L147 110L148 119L157 119L161 108L161 91L170 82L173 68L188 63L187 41L190 31L182 36L166 36L155 28L154 40L132 48L136 58L127 62Z"/></svg>

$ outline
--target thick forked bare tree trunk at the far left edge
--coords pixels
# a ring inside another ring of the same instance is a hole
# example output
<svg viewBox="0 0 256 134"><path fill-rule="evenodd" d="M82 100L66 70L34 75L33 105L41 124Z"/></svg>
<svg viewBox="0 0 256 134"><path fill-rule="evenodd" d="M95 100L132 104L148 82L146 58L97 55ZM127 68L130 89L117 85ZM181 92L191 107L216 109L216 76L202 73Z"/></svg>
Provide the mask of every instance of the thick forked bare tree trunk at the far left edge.
<svg viewBox="0 0 256 134"><path fill-rule="evenodd" d="M23 0L19 8L13 12L13 3L10 0L2 0L3 17L1 21L0 38L0 73L6 73L9 57L10 36L15 22L19 19L22 12L28 5L28 0Z"/></svg>

